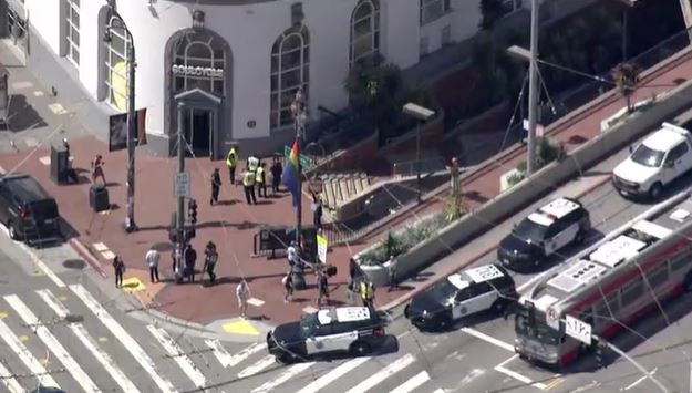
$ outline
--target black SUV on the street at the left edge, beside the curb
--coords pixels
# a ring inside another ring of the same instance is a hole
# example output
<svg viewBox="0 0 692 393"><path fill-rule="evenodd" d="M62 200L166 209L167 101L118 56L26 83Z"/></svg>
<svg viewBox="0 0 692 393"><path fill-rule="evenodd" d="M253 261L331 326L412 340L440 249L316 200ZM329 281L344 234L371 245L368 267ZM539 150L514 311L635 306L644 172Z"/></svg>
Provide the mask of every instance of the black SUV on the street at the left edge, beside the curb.
<svg viewBox="0 0 692 393"><path fill-rule="evenodd" d="M55 199L29 175L0 177L0 221L14 240L61 237Z"/></svg>

